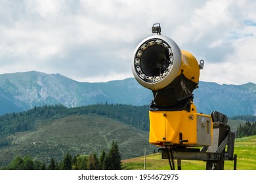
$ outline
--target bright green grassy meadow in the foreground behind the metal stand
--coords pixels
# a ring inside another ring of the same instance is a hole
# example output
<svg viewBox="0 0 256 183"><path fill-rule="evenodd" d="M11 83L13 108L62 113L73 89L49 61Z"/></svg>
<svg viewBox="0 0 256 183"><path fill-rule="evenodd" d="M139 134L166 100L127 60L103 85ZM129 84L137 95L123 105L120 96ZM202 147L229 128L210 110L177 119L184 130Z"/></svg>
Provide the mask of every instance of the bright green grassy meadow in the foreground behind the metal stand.
<svg viewBox="0 0 256 183"><path fill-rule="evenodd" d="M234 154L238 155L238 170L256 170L256 136L236 139ZM177 166L177 161L175 161ZM182 160L182 169L184 170L203 170L206 163L204 161ZM232 170L233 161L225 161L224 169ZM177 168L177 167L176 167ZM144 169L144 157L123 160L123 169ZM146 156L146 169L165 170L170 169L167 159L161 159L161 154L150 154Z"/></svg>

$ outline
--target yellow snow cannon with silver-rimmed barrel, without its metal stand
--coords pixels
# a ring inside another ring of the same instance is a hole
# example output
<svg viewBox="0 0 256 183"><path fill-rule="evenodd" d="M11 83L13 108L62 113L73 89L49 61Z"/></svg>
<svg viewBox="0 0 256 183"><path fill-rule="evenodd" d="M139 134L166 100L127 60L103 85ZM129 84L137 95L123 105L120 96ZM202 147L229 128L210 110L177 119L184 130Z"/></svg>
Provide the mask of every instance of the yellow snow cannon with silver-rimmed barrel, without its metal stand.
<svg viewBox="0 0 256 183"><path fill-rule="evenodd" d="M197 113L192 92L198 88L204 61L171 38L161 35L154 24L150 37L141 41L132 59L132 71L140 85L152 90L150 143L158 146L209 146L211 116Z"/></svg>

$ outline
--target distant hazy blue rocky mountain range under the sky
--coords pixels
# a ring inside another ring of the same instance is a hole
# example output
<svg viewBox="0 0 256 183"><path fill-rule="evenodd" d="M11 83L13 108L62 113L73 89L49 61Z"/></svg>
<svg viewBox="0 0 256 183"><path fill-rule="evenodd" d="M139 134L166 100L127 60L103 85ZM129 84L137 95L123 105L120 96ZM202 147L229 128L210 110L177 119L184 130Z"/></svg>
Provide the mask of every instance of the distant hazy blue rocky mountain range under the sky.
<svg viewBox="0 0 256 183"><path fill-rule="evenodd" d="M35 106L62 104L150 105L152 92L135 78L110 82L77 82L60 74L37 71L0 75L0 114L21 112ZM217 84L200 81L194 90L198 112L217 110L227 116L256 114L256 84Z"/></svg>

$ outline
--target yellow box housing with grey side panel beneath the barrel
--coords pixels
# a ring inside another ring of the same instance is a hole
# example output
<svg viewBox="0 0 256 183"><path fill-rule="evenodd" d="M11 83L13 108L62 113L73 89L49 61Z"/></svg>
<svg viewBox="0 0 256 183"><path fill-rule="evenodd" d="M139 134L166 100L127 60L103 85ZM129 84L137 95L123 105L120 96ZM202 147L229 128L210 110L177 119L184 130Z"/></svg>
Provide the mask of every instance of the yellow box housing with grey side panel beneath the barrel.
<svg viewBox="0 0 256 183"><path fill-rule="evenodd" d="M213 137L211 116L196 112L150 111L150 144L165 146L180 144L186 146L209 146Z"/></svg>

